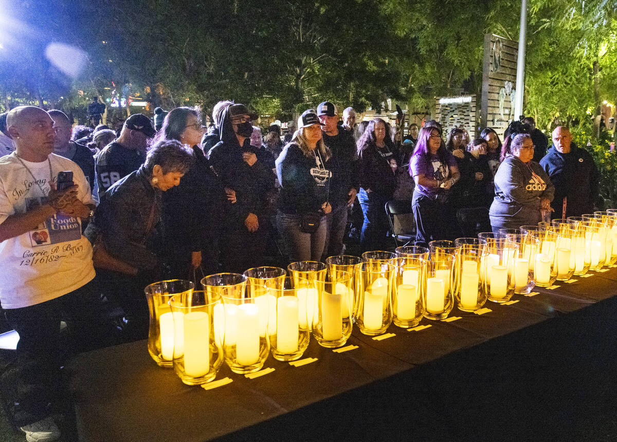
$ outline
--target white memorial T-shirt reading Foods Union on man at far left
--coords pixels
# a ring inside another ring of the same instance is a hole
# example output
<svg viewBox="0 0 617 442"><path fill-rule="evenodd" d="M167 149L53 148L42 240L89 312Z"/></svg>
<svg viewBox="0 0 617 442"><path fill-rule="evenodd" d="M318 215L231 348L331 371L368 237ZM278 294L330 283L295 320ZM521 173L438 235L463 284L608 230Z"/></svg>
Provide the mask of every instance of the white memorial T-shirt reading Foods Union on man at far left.
<svg viewBox="0 0 617 442"><path fill-rule="evenodd" d="M77 197L94 204L88 180L71 160L52 153L49 163L22 161L27 168L15 153L0 158L0 224L46 203L49 180L55 183L60 171L73 171ZM81 235L81 219L56 214L31 231L0 242L0 269L0 302L5 309L49 301L87 284L94 278L94 267L92 247Z"/></svg>

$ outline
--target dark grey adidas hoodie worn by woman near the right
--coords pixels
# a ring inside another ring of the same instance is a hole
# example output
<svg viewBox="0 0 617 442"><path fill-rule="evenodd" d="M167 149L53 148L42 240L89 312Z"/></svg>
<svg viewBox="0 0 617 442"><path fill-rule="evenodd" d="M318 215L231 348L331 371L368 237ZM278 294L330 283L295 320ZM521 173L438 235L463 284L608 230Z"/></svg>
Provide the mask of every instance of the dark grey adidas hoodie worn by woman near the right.
<svg viewBox="0 0 617 442"><path fill-rule="evenodd" d="M542 221L540 200L553 200L555 186L536 162L529 165L518 157L505 157L495 173L495 198L489 215L491 226L518 229Z"/></svg>

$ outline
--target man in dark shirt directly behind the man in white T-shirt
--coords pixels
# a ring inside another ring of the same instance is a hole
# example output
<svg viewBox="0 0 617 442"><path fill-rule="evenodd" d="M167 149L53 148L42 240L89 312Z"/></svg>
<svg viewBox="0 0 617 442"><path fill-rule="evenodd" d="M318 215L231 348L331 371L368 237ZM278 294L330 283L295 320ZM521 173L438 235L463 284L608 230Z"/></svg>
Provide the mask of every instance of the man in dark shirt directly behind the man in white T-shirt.
<svg viewBox="0 0 617 442"><path fill-rule="evenodd" d="M88 178L90 188L94 189L94 157L92 151L85 145L71 140L72 126L64 112L52 109L48 113L49 117L54 120L54 130L56 131L54 153L77 163Z"/></svg>

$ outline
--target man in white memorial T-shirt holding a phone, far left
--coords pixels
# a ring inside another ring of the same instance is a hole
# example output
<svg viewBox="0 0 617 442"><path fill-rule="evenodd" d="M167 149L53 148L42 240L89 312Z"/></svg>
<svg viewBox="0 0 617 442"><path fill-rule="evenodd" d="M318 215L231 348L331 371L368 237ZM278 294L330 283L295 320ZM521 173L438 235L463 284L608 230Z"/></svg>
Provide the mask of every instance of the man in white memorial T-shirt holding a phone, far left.
<svg viewBox="0 0 617 442"><path fill-rule="evenodd" d="M60 319L82 345L102 335L92 247L81 235L94 201L80 167L52 153L48 113L14 108L7 130L16 150L0 158L0 302L20 337L12 411L27 440L54 440L60 433L49 414L59 391ZM72 171L75 184L56 190L60 171Z"/></svg>

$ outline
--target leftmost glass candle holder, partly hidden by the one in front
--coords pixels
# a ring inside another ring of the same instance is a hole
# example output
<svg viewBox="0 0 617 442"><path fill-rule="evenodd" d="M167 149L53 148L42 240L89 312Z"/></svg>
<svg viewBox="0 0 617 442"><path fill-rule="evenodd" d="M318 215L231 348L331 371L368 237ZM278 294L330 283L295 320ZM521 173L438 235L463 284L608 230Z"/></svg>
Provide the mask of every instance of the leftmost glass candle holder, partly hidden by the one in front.
<svg viewBox="0 0 617 442"><path fill-rule="evenodd" d="M150 323L148 353L160 367L173 367L173 345L176 330L169 300L175 295L193 293L195 285L184 279L154 282L144 289L148 301Z"/></svg>

